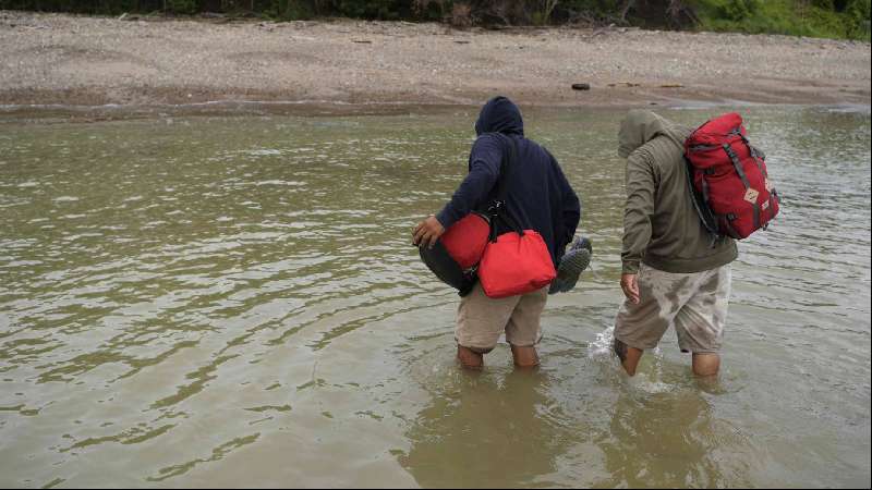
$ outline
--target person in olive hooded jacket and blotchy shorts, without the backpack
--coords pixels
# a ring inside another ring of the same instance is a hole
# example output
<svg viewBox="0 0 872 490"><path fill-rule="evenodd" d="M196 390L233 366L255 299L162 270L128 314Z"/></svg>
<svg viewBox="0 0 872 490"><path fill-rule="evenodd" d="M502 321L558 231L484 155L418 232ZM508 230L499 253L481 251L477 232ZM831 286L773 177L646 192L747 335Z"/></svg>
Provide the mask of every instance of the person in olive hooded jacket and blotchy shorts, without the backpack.
<svg viewBox="0 0 872 490"><path fill-rule="evenodd" d="M694 371L719 365L735 241L714 241L693 205L683 140L691 130L650 111L630 111L621 123L619 155L627 158L627 206L615 347L631 375L644 350L675 324ZM699 369L698 369L699 368ZM716 366L714 371L716 372Z"/></svg>

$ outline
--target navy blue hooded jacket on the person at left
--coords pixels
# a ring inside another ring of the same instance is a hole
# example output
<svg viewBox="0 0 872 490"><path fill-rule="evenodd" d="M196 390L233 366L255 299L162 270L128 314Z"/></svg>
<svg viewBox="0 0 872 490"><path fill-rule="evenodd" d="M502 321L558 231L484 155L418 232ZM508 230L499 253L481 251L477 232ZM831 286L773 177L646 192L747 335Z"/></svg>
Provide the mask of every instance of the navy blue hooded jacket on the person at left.
<svg viewBox="0 0 872 490"><path fill-rule="evenodd" d="M514 139L518 148L514 168L508 173L506 206L519 226L535 230L545 238L557 267L581 218L579 198L557 160L524 137L521 111L505 97L493 98L484 106L475 133L479 138L470 152L470 173L436 219L448 229L471 211L485 210L496 199L504 151L509 151L507 138L494 134L501 133Z"/></svg>

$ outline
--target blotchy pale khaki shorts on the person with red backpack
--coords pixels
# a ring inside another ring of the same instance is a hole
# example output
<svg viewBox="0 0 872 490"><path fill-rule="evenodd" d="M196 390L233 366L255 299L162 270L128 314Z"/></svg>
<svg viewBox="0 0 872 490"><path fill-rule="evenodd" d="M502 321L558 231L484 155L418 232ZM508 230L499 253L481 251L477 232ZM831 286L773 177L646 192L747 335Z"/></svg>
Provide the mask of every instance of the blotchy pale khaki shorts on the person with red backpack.
<svg viewBox="0 0 872 490"><path fill-rule="evenodd" d="M638 305L629 299L623 302L615 322L615 339L630 347L651 350L675 324L682 352L718 352L727 320L730 281L729 265L676 274L642 264L641 302Z"/></svg>

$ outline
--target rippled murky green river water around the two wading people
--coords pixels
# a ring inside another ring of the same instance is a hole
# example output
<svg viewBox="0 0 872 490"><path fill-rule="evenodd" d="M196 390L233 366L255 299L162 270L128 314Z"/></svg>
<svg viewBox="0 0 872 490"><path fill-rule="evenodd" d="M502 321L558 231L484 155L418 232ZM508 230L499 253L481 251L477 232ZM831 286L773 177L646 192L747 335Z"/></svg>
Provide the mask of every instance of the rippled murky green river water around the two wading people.
<svg viewBox="0 0 872 490"><path fill-rule="evenodd" d="M0 121L0 486L869 487L869 110L741 111L784 207L706 385L673 331L632 380L608 352L620 111L525 113L594 272L538 370L501 343L479 375L410 245L475 108Z"/></svg>

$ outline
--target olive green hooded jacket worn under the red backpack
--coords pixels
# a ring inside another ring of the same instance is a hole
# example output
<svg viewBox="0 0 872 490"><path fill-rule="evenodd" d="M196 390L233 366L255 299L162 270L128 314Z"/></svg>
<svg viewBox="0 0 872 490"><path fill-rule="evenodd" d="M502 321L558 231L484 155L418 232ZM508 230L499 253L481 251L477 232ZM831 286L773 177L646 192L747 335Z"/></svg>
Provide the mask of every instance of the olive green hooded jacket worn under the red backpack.
<svg viewBox="0 0 872 490"><path fill-rule="evenodd" d="M621 122L618 155L627 158L622 272L638 273L640 262L665 272L714 269L738 256L736 242L712 243L693 207L683 159L691 130L645 110Z"/></svg>

